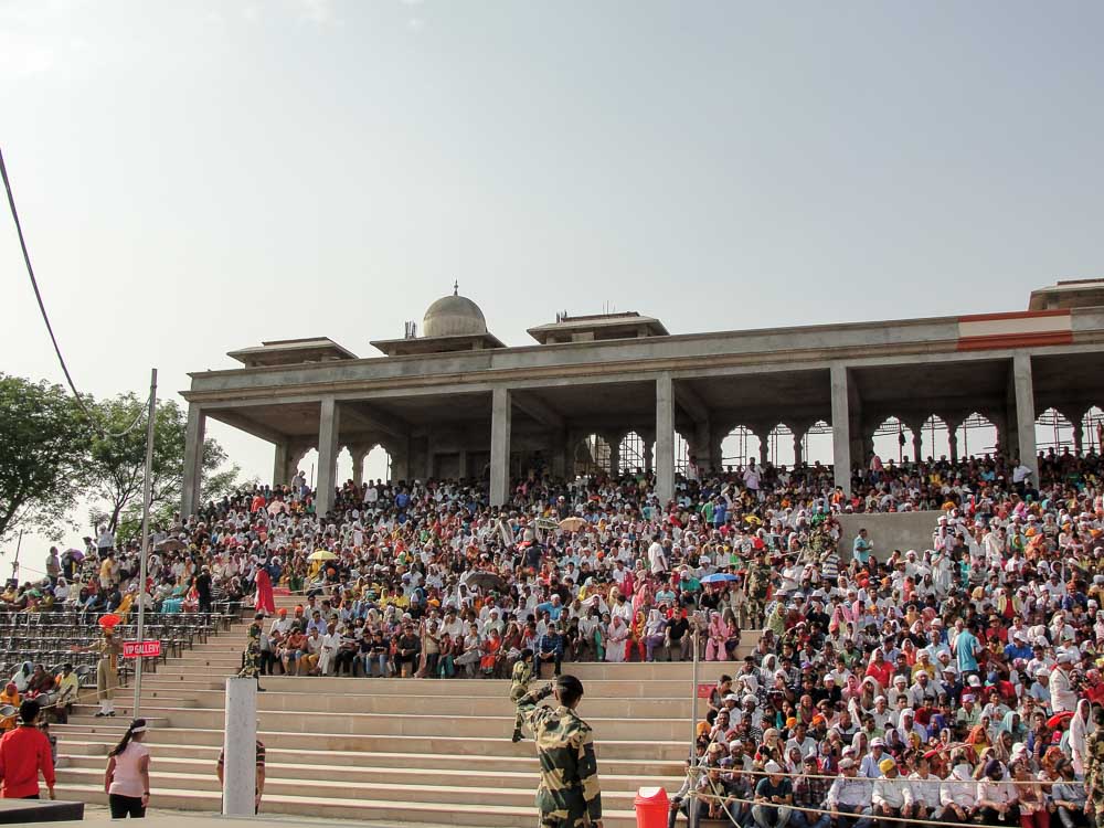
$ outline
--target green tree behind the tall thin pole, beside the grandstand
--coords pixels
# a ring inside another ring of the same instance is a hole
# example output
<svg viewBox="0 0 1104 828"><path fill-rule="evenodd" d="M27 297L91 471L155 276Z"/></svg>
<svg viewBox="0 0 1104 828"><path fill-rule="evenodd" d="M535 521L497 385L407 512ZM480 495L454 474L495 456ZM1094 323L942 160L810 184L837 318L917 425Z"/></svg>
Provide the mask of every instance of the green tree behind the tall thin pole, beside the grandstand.
<svg viewBox="0 0 1104 828"><path fill-rule="evenodd" d="M120 432L138 416L145 403L134 394L121 394L98 403L100 422L107 431ZM164 523L180 502L184 486L184 434L187 415L176 401L158 403L153 435L153 474L150 514ZM234 488L240 469L223 468L226 453L208 437L203 443L203 497L222 497ZM120 438L97 435L92 440L89 474L93 495L100 508L93 522L104 522L120 539L141 528L142 485L146 470L146 428L140 426Z"/></svg>

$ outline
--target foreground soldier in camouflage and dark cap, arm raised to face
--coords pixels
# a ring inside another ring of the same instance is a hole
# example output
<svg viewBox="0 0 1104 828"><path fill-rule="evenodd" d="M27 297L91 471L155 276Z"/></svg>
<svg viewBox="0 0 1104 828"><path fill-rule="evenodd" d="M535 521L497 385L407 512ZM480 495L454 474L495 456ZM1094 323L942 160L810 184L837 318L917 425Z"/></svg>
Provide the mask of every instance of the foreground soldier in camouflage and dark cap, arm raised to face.
<svg viewBox="0 0 1104 828"><path fill-rule="evenodd" d="M538 707L555 693L559 705ZM602 828L602 788L591 725L575 713L583 683L561 676L518 700L518 711L533 731L541 783L537 788L539 828Z"/></svg>

